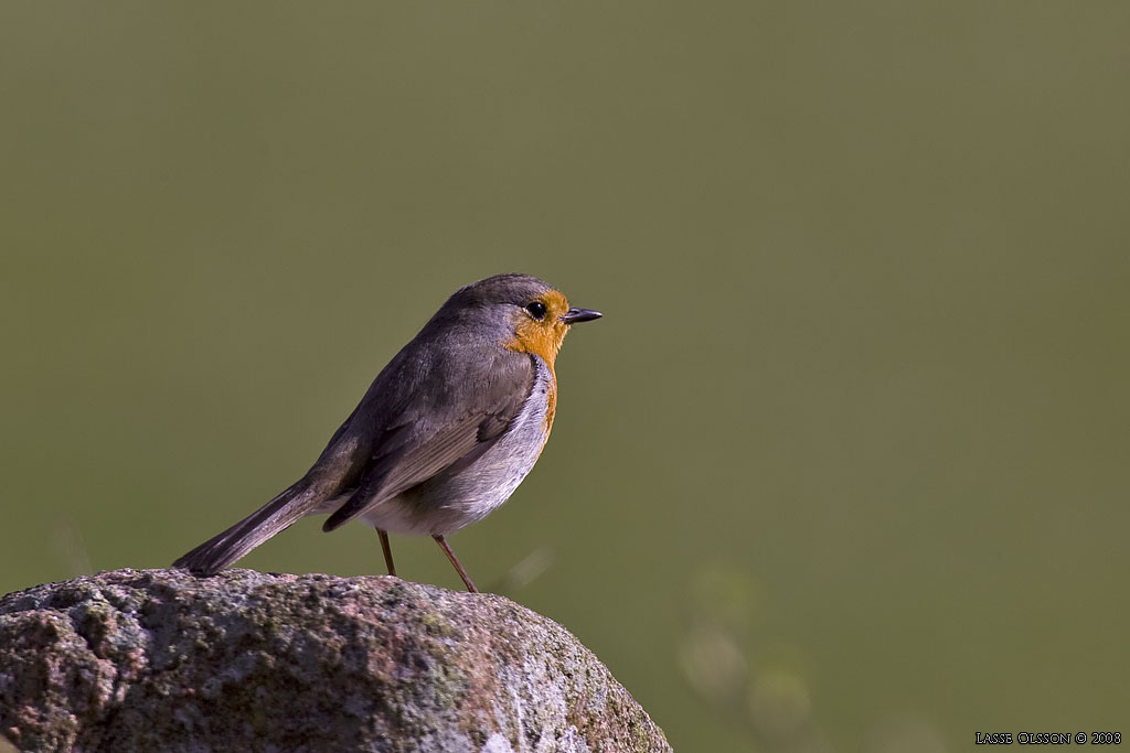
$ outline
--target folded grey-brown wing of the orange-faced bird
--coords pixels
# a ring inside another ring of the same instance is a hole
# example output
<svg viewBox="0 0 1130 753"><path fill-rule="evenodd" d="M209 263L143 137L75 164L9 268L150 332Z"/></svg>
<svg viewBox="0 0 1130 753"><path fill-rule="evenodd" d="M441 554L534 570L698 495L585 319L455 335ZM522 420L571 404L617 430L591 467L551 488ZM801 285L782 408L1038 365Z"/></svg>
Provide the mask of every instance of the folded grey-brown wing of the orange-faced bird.
<svg viewBox="0 0 1130 753"><path fill-rule="evenodd" d="M534 365L524 353L488 352L454 360L450 351L437 351L390 364L350 421L359 424L346 431L371 438L368 461L323 531L442 471L472 463L506 432L533 388Z"/></svg>

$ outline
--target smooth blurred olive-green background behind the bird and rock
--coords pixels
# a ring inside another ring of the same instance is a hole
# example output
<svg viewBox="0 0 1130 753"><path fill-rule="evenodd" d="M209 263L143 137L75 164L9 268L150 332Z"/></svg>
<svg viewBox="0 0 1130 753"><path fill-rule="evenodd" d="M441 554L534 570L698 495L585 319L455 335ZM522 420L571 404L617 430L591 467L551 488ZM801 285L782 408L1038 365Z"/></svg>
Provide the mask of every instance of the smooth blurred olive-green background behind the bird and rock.
<svg viewBox="0 0 1130 753"><path fill-rule="evenodd" d="M5 3L0 590L166 566L516 270L606 318L453 546L677 748L1130 733L1128 40L1121 2ZM244 563L382 571L313 520Z"/></svg>

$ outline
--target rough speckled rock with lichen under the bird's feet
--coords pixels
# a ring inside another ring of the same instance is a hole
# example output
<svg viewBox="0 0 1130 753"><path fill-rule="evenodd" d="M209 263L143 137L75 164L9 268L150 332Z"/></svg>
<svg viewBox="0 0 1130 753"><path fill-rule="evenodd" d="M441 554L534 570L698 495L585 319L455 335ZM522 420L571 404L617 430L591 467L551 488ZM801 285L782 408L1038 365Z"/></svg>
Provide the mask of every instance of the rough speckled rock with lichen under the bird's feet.
<svg viewBox="0 0 1130 753"><path fill-rule="evenodd" d="M501 596L118 570L0 599L21 751L669 751L608 669Z"/></svg>

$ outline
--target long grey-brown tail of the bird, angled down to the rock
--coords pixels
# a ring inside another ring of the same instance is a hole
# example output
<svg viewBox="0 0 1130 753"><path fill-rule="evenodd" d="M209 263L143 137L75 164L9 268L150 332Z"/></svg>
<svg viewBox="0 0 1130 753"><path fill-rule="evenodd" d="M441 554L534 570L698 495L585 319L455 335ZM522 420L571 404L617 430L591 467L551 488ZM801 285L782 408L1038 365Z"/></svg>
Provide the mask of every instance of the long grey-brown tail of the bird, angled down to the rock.
<svg viewBox="0 0 1130 753"><path fill-rule="evenodd" d="M324 492L305 479L173 562L174 568L195 575L214 575L261 543L312 513Z"/></svg>

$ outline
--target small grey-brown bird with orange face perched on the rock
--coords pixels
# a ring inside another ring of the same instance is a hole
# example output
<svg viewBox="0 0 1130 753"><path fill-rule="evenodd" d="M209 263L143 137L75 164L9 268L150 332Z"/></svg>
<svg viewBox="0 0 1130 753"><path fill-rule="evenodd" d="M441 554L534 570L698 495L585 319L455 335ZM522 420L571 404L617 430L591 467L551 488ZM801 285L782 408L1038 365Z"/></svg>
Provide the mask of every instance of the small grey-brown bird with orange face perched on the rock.
<svg viewBox="0 0 1130 753"><path fill-rule="evenodd" d="M389 533L432 536L478 593L446 536L481 520L527 476L557 410L554 364L574 308L556 288L506 273L457 290L381 369L306 473L200 544L174 568L210 576L307 515L323 531L376 529L389 575Z"/></svg>

